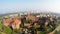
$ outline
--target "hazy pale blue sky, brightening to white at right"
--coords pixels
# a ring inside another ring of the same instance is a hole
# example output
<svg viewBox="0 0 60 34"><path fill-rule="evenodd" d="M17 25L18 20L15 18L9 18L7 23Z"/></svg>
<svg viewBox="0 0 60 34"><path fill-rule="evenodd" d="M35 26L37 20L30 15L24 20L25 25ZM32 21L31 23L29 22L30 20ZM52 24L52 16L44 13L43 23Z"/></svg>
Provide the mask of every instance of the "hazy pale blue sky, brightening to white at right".
<svg viewBox="0 0 60 34"><path fill-rule="evenodd" d="M60 0L0 0L0 13L27 10L60 13Z"/></svg>

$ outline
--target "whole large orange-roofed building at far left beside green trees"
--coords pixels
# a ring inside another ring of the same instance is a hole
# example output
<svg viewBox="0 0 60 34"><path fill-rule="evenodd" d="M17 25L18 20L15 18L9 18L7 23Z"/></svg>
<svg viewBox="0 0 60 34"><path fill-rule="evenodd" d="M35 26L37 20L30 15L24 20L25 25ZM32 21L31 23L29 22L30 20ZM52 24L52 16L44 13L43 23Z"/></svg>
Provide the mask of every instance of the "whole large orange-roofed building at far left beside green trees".
<svg viewBox="0 0 60 34"><path fill-rule="evenodd" d="M19 29L21 20L20 17L10 17L10 18L3 19L3 24L5 26L11 26L13 29L15 28Z"/></svg>

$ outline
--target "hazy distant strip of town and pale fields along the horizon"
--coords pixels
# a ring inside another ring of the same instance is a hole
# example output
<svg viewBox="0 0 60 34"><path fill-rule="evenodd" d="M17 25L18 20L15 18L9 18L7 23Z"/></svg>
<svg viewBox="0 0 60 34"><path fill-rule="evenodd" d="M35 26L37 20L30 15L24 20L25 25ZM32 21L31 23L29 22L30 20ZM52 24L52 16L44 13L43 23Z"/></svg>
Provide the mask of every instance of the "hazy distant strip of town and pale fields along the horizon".
<svg viewBox="0 0 60 34"><path fill-rule="evenodd" d="M11 16L27 16L27 15L35 15L36 17L48 17L51 16L53 18L58 18L60 19L60 14L58 13L53 13L53 12L14 12L14 13L6 13L6 14L0 14L0 17L11 17Z"/></svg>

